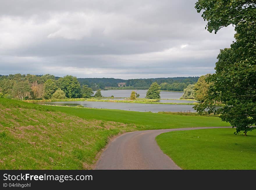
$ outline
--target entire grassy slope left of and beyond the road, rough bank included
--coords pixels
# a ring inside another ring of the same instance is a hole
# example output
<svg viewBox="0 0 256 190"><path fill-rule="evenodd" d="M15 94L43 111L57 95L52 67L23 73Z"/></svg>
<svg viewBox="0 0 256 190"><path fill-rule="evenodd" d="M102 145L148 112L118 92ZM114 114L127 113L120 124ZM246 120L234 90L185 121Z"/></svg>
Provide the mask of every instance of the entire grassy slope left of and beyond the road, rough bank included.
<svg viewBox="0 0 256 190"><path fill-rule="evenodd" d="M218 117L44 106L0 98L0 169L92 169L127 131L228 126Z"/></svg>

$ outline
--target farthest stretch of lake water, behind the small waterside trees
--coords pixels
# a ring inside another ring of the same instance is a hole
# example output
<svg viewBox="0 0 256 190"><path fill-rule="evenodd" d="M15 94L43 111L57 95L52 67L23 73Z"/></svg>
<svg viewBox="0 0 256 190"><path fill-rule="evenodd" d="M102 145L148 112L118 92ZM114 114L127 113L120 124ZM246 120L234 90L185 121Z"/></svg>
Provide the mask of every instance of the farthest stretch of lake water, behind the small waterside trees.
<svg viewBox="0 0 256 190"><path fill-rule="evenodd" d="M109 90L109 91L101 91L102 96L111 97L112 95L116 98L125 98L131 96L131 91L134 90ZM96 91L94 91L95 93ZM137 90L138 94L140 94L140 98L145 98L147 94L147 90ZM160 92L161 99L179 99L183 95L183 92Z"/></svg>

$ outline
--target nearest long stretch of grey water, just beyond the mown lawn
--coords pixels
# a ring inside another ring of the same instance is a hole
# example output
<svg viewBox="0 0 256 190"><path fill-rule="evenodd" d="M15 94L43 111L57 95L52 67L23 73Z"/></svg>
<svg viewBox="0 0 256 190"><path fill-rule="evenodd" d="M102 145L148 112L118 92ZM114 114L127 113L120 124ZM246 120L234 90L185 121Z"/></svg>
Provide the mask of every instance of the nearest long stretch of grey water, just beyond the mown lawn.
<svg viewBox="0 0 256 190"><path fill-rule="evenodd" d="M120 90L124 91L124 90ZM136 104L136 103L122 103L122 102L41 102L40 104L52 104L52 105L68 105L68 106L77 106L82 105L84 107L92 108L106 108L106 109L120 109L127 111L141 111L141 112L154 112L159 111L170 111L170 112L195 112L192 108L193 105L168 105L168 104Z"/></svg>

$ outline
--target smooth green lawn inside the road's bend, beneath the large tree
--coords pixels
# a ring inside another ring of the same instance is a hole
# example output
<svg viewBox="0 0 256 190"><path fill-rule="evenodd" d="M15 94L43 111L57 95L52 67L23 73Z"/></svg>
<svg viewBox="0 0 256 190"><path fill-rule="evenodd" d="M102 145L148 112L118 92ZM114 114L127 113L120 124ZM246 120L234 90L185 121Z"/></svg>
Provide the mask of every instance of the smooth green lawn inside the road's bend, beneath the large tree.
<svg viewBox="0 0 256 190"><path fill-rule="evenodd" d="M256 130L172 131L156 137L160 148L182 169L256 169Z"/></svg>

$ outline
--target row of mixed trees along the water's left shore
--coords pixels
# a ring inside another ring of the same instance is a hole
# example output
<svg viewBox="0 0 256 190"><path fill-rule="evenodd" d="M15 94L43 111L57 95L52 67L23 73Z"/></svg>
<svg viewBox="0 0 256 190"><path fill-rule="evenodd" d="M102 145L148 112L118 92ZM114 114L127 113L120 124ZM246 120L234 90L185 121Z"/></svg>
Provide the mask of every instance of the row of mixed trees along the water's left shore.
<svg viewBox="0 0 256 190"><path fill-rule="evenodd" d="M0 77L0 93L4 97L23 99L64 99L91 97L92 88L83 85L76 77L54 75L9 75Z"/></svg>

